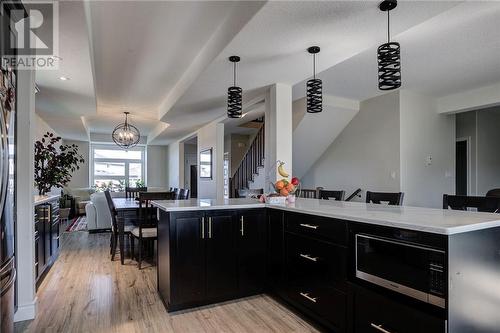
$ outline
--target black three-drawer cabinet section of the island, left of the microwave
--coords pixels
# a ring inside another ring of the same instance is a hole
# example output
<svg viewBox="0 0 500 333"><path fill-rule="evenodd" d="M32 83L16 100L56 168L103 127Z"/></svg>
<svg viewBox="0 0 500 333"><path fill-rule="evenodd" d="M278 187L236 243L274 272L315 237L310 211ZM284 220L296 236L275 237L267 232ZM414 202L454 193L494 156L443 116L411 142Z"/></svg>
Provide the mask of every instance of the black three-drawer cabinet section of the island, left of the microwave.
<svg viewBox="0 0 500 333"><path fill-rule="evenodd" d="M347 329L347 226L285 213L286 301L335 332Z"/></svg>

